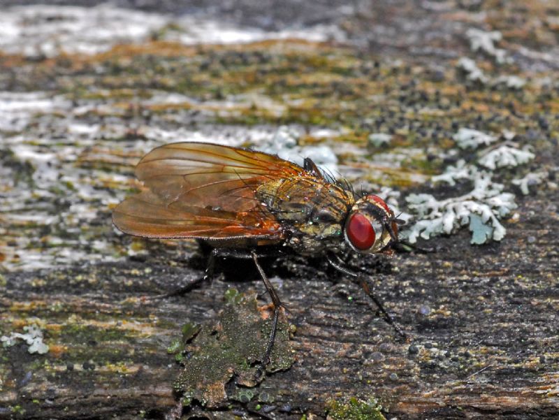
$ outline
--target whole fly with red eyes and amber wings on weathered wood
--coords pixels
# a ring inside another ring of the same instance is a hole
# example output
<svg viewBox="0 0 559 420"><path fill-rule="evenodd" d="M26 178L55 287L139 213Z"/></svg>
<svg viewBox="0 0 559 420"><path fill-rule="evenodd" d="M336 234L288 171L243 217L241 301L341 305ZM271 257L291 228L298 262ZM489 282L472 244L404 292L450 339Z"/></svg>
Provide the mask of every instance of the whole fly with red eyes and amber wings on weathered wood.
<svg viewBox="0 0 559 420"><path fill-rule="evenodd" d="M335 269L359 280L384 319L404 335L365 277L340 258L346 251L390 252L398 242L400 220L379 196L357 196L349 184L325 177L309 158L301 167L272 154L209 143L157 147L140 160L136 177L145 188L115 208L112 220L119 230L144 238L202 240L213 248L210 264L216 256L254 261L274 304L263 365L270 361L283 307L259 263L270 249L326 256Z"/></svg>

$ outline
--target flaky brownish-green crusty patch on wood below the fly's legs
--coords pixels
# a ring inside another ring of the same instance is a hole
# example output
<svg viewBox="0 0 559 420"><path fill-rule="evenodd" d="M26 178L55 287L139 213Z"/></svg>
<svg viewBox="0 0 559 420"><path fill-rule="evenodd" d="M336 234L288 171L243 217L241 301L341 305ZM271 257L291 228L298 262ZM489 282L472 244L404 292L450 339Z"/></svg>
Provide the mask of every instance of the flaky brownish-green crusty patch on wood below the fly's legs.
<svg viewBox="0 0 559 420"><path fill-rule="evenodd" d="M208 407L220 407L228 394L249 400L246 391L262 381L264 370L277 372L293 364L289 324L283 317L278 322L270 363L262 366L271 314L259 310L256 294L247 296L230 289L225 298L226 305L216 324L188 324L183 328L184 370L174 385L175 391L182 394L183 405L196 400ZM176 346L170 349L176 350Z"/></svg>

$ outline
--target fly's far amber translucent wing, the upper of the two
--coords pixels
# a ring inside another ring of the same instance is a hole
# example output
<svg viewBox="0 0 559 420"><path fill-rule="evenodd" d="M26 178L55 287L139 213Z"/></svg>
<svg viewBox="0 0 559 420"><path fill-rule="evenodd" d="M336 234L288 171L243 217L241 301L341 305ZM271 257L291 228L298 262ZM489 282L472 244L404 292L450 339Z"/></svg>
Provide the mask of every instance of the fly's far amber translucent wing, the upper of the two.
<svg viewBox="0 0 559 420"><path fill-rule="evenodd" d="M296 164L263 152L208 143L173 143L143 157L136 177L168 205L244 212L259 204L254 197L256 187L302 171Z"/></svg>

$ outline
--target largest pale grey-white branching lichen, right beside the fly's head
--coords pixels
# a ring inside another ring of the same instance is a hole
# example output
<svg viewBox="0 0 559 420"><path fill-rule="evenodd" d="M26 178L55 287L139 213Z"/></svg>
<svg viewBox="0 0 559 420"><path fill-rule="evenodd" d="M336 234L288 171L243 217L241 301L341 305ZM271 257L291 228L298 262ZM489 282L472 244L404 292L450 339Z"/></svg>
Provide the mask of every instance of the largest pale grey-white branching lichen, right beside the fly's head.
<svg viewBox="0 0 559 420"><path fill-rule="evenodd" d="M405 236L410 243L417 238L429 239L442 233L453 233L460 226L468 225L472 231L472 244L489 239L501 240L506 229L499 219L517 207L514 194L502 192L502 184L491 180L491 175L476 172L474 189L468 194L437 200L431 194L410 194L406 201L419 221L407 229Z"/></svg>

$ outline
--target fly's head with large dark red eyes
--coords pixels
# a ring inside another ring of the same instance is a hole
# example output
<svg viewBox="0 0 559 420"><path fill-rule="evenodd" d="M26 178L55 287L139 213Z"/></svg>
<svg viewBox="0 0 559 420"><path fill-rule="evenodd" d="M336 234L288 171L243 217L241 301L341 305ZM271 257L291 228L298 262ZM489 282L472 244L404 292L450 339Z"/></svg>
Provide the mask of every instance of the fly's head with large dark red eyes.
<svg viewBox="0 0 559 420"><path fill-rule="evenodd" d="M398 222L382 198L359 198L349 211L344 225L348 245L361 254L375 254L398 242Z"/></svg>

